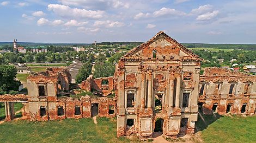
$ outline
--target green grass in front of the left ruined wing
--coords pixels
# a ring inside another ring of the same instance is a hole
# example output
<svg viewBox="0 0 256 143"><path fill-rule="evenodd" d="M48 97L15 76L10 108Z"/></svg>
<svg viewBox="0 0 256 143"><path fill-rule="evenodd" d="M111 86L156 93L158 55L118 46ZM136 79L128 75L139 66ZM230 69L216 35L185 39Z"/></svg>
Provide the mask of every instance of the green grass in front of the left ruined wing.
<svg viewBox="0 0 256 143"><path fill-rule="evenodd" d="M65 119L30 122L16 120L0 125L1 142L139 142L137 138L117 138L112 118Z"/></svg>

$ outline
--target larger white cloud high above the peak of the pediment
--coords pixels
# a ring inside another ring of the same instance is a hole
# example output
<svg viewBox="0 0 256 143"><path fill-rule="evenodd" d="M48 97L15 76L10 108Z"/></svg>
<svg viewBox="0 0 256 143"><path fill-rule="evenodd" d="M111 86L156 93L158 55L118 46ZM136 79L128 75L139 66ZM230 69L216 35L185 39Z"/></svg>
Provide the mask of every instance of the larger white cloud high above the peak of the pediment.
<svg viewBox="0 0 256 143"><path fill-rule="evenodd" d="M186 16L187 14L185 12L178 11L175 9L169 9L169 8L161 8L160 10L155 11L153 13L154 17L159 17L163 15Z"/></svg>

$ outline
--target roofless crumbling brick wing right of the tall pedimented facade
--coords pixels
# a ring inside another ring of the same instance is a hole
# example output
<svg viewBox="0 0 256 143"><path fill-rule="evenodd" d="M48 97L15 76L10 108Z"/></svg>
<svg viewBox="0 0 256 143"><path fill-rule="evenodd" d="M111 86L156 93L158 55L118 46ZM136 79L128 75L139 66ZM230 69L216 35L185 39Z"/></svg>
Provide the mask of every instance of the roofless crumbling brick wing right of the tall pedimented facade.
<svg viewBox="0 0 256 143"><path fill-rule="evenodd" d="M223 68L205 68L199 106L204 114L255 114L256 76Z"/></svg>

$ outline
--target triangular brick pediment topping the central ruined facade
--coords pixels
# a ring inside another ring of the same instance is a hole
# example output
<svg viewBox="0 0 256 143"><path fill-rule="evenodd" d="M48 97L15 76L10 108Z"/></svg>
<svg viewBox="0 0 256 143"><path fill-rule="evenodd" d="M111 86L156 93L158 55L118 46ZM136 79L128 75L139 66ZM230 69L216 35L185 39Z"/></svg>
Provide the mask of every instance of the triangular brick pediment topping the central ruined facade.
<svg viewBox="0 0 256 143"><path fill-rule="evenodd" d="M133 48L123 56L128 58L141 57L141 59L156 60L179 60L194 59L203 60L198 55L192 53L186 47L166 35L163 31L157 33L151 40Z"/></svg>

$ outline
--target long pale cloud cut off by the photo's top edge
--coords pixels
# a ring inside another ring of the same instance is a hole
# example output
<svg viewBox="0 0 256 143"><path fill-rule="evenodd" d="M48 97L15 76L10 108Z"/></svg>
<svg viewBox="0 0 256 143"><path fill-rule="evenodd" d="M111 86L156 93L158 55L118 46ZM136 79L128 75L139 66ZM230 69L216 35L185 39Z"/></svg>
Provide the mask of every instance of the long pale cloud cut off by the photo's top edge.
<svg viewBox="0 0 256 143"><path fill-rule="evenodd" d="M120 0L60 0L64 5L82 6L86 9L105 10L109 8L128 9L130 4Z"/></svg>

